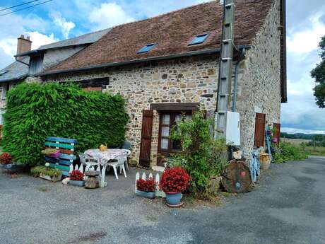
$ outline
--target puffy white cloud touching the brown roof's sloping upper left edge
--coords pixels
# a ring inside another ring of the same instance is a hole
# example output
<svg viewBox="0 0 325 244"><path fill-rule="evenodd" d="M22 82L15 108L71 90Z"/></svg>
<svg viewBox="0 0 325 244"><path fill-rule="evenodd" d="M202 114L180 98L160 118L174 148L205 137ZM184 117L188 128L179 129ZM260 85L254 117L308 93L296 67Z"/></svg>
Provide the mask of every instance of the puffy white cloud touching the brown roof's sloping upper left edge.
<svg viewBox="0 0 325 244"><path fill-rule="evenodd" d="M88 18L90 22L95 23L94 30L102 30L122 23L135 21L134 18L129 16L115 2L100 4L99 8L93 8Z"/></svg>

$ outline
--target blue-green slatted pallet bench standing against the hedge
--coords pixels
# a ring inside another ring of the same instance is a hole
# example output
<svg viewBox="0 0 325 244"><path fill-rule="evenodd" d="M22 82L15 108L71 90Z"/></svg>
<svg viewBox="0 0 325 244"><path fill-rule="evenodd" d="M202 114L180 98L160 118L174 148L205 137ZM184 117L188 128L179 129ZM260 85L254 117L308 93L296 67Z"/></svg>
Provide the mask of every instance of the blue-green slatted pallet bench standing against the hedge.
<svg viewBox="0 0 325 244"><path fill-rule="evenodd" d="M73 155L76 139L61 138L49 136L45 138L45 148L59 149L59 158L50 158L45 156L45 162L49 163L49 167L61 170L62 175L69 176L70 165L76 156Z"/></svg>

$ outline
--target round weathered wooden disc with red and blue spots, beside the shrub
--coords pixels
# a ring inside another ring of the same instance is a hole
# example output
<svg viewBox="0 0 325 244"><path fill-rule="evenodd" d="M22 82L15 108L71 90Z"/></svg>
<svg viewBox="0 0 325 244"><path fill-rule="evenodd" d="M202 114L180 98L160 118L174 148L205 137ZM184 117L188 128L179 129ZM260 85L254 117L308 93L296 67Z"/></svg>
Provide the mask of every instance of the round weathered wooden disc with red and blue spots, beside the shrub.
<svg viewBox="0 0 325 244"><path fill-rule="evenodd" d="M234 159L228 165L225 165L221 182L228 192L248 192L249 187L252 185L251 173L243 161Z"/></svg>

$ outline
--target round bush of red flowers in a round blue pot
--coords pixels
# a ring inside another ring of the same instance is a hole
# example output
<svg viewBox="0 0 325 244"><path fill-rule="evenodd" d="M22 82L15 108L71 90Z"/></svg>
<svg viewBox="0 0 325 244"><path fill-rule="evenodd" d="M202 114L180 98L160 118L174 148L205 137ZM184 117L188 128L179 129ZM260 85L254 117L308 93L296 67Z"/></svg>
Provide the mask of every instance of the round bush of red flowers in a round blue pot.
<svg viewBox="0 0 325 244"><path fill-rule="evenodd" d="M189 174L179 167L167 168L161 175L159 187L166 194L167 206L181 207L182 192L189 186Z"/></svg>

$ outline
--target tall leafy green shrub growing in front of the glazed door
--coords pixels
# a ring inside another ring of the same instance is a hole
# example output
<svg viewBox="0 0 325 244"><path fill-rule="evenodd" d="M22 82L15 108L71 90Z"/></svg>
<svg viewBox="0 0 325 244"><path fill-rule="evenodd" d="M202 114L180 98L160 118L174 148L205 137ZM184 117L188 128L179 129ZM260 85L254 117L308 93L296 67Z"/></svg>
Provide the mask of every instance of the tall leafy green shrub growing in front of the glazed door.
<svg viewBox="0 0 325 244"><path fill-rule="evenodd" d="M191 186L199 198L208 198L208 183L220 175L223 169L225 139L214 140L211 136L212 120L205 120L196 112L192 120L177 122L171 139L180 141L182 151L172 156L174 165L182 166L191 176Z"/></svg>

